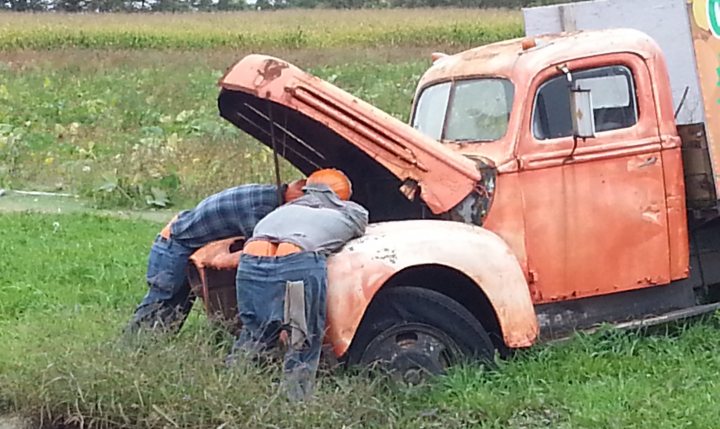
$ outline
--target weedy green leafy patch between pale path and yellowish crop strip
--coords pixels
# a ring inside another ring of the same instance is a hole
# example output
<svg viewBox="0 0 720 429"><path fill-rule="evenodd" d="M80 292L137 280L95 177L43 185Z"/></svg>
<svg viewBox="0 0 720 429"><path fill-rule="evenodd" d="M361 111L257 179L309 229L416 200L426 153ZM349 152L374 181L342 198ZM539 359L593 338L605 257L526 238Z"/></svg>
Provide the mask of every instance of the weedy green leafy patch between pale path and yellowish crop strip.
<svg viewBox="0 0 720 429"><path fill-rule="evenodd" d="M219 117L222 68L203 54L147 53L140 66L137 57L68 55L65 63L38 56L0 73L0 187L63 189L122 207L145 206L158 194L177 204L272 180L270 152ZM417 59L311 71L406 119L426 67Z"/></svg>

